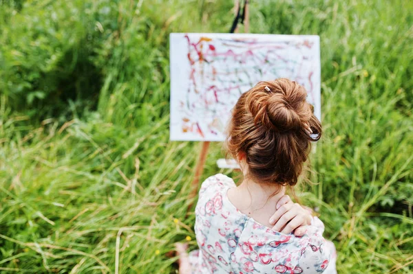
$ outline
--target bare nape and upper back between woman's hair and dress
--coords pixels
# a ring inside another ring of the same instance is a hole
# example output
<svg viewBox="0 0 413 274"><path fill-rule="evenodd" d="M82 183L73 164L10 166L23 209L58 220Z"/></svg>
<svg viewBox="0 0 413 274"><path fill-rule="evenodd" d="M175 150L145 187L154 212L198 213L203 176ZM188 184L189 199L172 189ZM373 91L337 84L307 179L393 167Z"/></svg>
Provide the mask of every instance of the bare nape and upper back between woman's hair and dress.
<svg viewBox="0 0 413 274"><path fill-rule="evenodd" d="M277 202L284 194L284 186L264 185L244 179L240 185L229 190L228 198L240 212L271 227L269 218L277 210Z"/></svg>

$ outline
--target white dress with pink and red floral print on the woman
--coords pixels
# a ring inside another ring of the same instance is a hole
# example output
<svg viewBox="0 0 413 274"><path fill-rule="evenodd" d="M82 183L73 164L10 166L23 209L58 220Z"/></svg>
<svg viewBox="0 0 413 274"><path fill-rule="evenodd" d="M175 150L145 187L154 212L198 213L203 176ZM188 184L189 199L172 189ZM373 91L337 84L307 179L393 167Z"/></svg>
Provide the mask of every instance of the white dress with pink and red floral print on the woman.
<svg viewBox="0 0 413 274"><path fill-rule="evenodd" d="M317 217L306 234L273 231L242 214L226 192L235 187L224 174L202 183L195 208L195 235L200 249L189 253L192 273L337 273L335 248L324 240Z"/></svg>

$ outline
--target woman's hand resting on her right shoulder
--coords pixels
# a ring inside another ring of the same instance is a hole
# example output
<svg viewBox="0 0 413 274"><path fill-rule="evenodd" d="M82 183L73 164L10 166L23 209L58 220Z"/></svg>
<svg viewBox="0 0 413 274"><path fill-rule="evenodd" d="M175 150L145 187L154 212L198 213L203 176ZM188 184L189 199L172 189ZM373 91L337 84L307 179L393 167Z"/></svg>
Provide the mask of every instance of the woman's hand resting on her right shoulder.
<svg viewBox="0 0 413 274"><path fill-rule="evenodd" d="M301 207L298 203L293 203L290 196L282 196L277 205L277 210L270 218L270 224L274 225L273 230L281 233L291 233L295 236L303 236L306 232L306 225L311 225L311 213L308 209Z"/></svg>

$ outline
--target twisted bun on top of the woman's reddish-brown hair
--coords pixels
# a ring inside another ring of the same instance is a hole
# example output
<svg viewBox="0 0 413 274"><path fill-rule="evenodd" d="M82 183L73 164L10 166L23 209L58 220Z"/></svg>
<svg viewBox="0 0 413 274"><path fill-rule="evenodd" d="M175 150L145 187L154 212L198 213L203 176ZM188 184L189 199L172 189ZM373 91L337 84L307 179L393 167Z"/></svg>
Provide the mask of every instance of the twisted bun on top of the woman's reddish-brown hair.
<svg viewBox="0 0 413 274"><path fill-rule="evenodd" d="M293 84L291 84L293 83ZM296 82L260 82L248 94L248 110L254 117L255 124L262 124L268 130L285 133L304 128L306 117L306 91Z"/></svg>

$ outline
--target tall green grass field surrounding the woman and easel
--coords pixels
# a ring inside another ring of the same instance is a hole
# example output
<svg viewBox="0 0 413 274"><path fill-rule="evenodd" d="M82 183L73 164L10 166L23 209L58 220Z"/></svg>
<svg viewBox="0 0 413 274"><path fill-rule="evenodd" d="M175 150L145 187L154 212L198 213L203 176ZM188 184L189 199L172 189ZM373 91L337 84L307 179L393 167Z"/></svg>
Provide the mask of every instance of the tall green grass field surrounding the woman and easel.
<svg viewBox="0 0 413 274"><path fill-rule="evenodd" d="M321 38L299 196L339 273L412 273L413 1L251 2L251 32ZM228 32L233 1L0 5L0 272L176 273L200 144L169 141L169 33Z"/></svg>

